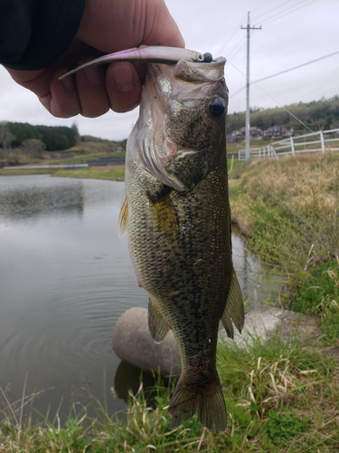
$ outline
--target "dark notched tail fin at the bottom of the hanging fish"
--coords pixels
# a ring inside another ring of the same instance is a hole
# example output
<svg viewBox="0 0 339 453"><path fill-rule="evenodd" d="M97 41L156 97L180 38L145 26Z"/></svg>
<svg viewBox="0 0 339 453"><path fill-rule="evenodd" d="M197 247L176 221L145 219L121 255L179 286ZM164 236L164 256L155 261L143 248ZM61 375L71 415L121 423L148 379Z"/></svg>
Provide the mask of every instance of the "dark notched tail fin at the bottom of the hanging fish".
<svg viewBox="0 0 339 453"><path fill-rule="evenodd" d="M208 392L187 390L179 380L168 411L172 417L171 429L191 419L196 411L198 411L199 421L207 429L224 431L227 427L227 410L219 379Z"/></svg>

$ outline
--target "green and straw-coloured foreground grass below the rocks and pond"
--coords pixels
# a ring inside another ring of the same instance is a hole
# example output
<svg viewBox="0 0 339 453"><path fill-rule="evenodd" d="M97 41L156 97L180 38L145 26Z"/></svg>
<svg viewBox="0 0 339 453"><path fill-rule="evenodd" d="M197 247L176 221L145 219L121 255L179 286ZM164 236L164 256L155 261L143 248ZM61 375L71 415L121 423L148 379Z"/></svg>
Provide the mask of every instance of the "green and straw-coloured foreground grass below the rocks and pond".
<svg viewBox="0 0 339 453"><path fill-rule="evenodd" d="M170 430L166 406L173 388L159 381L155 404L142 386L130 393L126 421L109 415L99 400L92 401L97 418L74 404L63 426L58 413L32 424L7 404L0 452L332 453L339 448L339 365L308 348L296 338L283 342L278 334L247 350L221 342L218 369L229 416L224 433L203 429L196 416Z"/></svg>

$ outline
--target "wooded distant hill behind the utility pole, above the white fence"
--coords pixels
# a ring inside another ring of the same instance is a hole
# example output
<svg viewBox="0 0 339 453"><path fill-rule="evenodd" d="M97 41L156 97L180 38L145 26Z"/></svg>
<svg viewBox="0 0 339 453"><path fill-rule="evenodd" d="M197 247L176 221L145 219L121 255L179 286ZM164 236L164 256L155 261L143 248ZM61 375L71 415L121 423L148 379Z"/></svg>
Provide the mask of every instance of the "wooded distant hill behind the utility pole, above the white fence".
<svg viewBox="0 0 339 453"><path fill-rule="evenodd" d="M299 102L285 106L298 120L312 130L329 130L339 128L339 96L320 101ZM275 109L253 109L250 111L250 126L266 130L271 126L283 124L287 129L293 129L295 135L305 133L305 128L299 121L281 107ZM240 130L245 125L245 111L229 112L227 130Z"/></svg>

